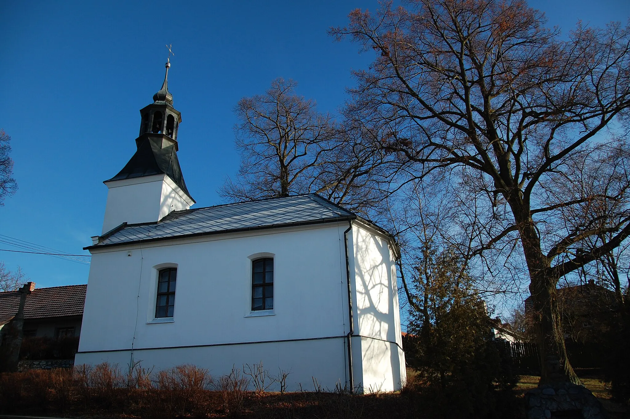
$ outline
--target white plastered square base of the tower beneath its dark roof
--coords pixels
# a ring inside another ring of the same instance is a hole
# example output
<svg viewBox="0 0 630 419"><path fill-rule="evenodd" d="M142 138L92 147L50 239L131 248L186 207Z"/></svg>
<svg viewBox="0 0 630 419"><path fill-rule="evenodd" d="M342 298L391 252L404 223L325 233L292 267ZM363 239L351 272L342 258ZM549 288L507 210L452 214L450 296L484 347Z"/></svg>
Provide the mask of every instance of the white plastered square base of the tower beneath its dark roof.
<svg viewBox="0 0 630 419"><path fill-rule="evenodd" d="M105 234L123 222L156 222L173 210L189 209L193 200L167 175L142 176L106 183Z"/></svg>

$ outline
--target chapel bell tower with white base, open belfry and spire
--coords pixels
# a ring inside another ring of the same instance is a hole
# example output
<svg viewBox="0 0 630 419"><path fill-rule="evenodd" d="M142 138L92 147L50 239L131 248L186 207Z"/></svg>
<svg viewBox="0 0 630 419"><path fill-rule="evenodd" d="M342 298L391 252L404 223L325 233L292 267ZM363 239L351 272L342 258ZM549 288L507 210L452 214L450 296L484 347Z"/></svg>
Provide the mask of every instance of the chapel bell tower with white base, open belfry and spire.
<svg viewBox="0 0 630 419"><path fill-rule="evenodd" d="M168 91L168 70L153 103L140 110L137 150L118 175L104 181L108 187L103 232L127 224L158 222L170 212L195 204L181 174L177 142L181 114L173 108Z"/></svg>

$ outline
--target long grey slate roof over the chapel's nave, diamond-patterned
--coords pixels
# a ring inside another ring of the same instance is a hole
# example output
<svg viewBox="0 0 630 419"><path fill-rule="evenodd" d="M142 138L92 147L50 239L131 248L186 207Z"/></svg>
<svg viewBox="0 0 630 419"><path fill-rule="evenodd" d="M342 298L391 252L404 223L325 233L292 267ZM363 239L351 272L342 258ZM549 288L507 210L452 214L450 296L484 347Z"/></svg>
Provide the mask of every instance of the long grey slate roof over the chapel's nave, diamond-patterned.
<svg viewBox="0 0 630 419"><path fill-rule="evenodd" d="M173 211L159 222L123 224L86 249L159 239L357 219L315 193Z"/></svg>

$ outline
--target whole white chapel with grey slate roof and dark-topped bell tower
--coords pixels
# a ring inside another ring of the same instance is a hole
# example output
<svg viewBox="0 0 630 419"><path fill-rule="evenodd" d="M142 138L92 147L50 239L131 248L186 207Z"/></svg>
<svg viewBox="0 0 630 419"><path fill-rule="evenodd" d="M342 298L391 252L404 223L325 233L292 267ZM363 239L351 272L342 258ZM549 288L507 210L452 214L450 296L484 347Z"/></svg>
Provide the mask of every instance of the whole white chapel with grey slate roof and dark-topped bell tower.
<svg viewBox="0 0 630 419"><path fill-rule="evenodd" d="M166 64L166 76L168 68ZM372 222L299 195L190 209L167 77L112 179L75 364L263 362L289 390L394 390L406 378L398 248Z"/></svg>

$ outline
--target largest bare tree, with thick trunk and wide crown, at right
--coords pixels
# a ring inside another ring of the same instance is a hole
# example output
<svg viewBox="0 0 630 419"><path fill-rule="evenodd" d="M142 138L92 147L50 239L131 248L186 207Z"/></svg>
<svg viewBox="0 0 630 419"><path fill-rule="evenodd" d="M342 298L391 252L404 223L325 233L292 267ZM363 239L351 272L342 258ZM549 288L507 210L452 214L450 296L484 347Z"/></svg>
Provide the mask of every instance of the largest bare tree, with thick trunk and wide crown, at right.
<svg viewBox="0 0 630 419"><path fill-rule="evenodd" d="M407 9L355 10L347 27L331 33L377 52L368 71L355 72L348 113L379 126L381 149L410 163L401 176L437 172L469 181L471 200L487 203L475 211L485 208L486 218L505 226L479 234L471 255L520 244L542 381L560 379L558 362L564 377L578 381L556 285L630 235L630 178L609 164L629 151L613 134L630 108L630 28L578 24L561 40L545 23L521 0L419 0ZM581 188L578 173L612 184ZM595 216L594 207L606 211ZM587 245L602 232L612 234L609 241Z"/></svg>

